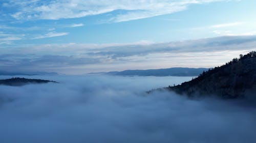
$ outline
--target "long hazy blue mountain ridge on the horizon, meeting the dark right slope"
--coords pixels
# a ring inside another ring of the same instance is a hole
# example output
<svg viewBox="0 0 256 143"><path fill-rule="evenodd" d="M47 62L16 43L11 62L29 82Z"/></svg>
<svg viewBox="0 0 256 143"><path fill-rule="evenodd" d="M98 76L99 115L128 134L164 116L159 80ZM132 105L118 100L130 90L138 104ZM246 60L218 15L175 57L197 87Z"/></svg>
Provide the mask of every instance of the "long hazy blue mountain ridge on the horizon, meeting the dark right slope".
<svg viewBox="0 0 256 143"><path fill-rule="evenodd" d="M168 68L148 70L124 70L113 72L99 72L89 74L120 75L120 76L198 76L207 68Z"/></svg>

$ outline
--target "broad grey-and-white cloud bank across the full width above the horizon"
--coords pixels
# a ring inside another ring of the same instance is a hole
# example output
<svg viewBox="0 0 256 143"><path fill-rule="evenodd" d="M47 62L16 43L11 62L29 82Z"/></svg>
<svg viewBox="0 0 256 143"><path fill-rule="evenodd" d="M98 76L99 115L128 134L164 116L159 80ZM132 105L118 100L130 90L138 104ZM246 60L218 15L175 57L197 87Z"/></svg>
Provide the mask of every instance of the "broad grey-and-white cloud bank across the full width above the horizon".
<svg viewBox="0 0 256 143"><path fill-rule="evenodd" d="M2 62L0 67L3 70L47 70L70 74L169 67L211 68L255 50L255 44L255 36L225 36L168 43L140 41L2 47L0 60L8 62Z"/></svg>

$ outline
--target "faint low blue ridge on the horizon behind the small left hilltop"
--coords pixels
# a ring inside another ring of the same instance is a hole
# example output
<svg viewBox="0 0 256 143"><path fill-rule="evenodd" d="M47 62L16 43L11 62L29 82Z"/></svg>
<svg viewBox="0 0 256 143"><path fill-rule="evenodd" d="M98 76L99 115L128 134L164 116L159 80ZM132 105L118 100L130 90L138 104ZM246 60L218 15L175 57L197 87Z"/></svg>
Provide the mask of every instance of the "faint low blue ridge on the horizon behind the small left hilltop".
<svg viewBox="0 0 256 143"><path fill-rule="evenodd" d="M56 72L10 72L0 71L0 75L58 75Z"/></svg>

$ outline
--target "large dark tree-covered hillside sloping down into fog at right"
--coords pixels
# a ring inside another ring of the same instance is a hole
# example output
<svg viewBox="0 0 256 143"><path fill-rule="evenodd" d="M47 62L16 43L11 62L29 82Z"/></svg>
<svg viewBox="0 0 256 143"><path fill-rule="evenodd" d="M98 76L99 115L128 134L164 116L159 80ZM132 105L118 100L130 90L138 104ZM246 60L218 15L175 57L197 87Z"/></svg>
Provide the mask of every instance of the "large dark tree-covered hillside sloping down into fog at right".
<svg viewBox="0 0 256 143"><path fill-rule="evenodd" d="M240 59L235 58L221 67L202 72L191 81L164 89L188 97L217 95L221 98L238 98L245 94L255 97L256 51L240 54Z"/></svg>

